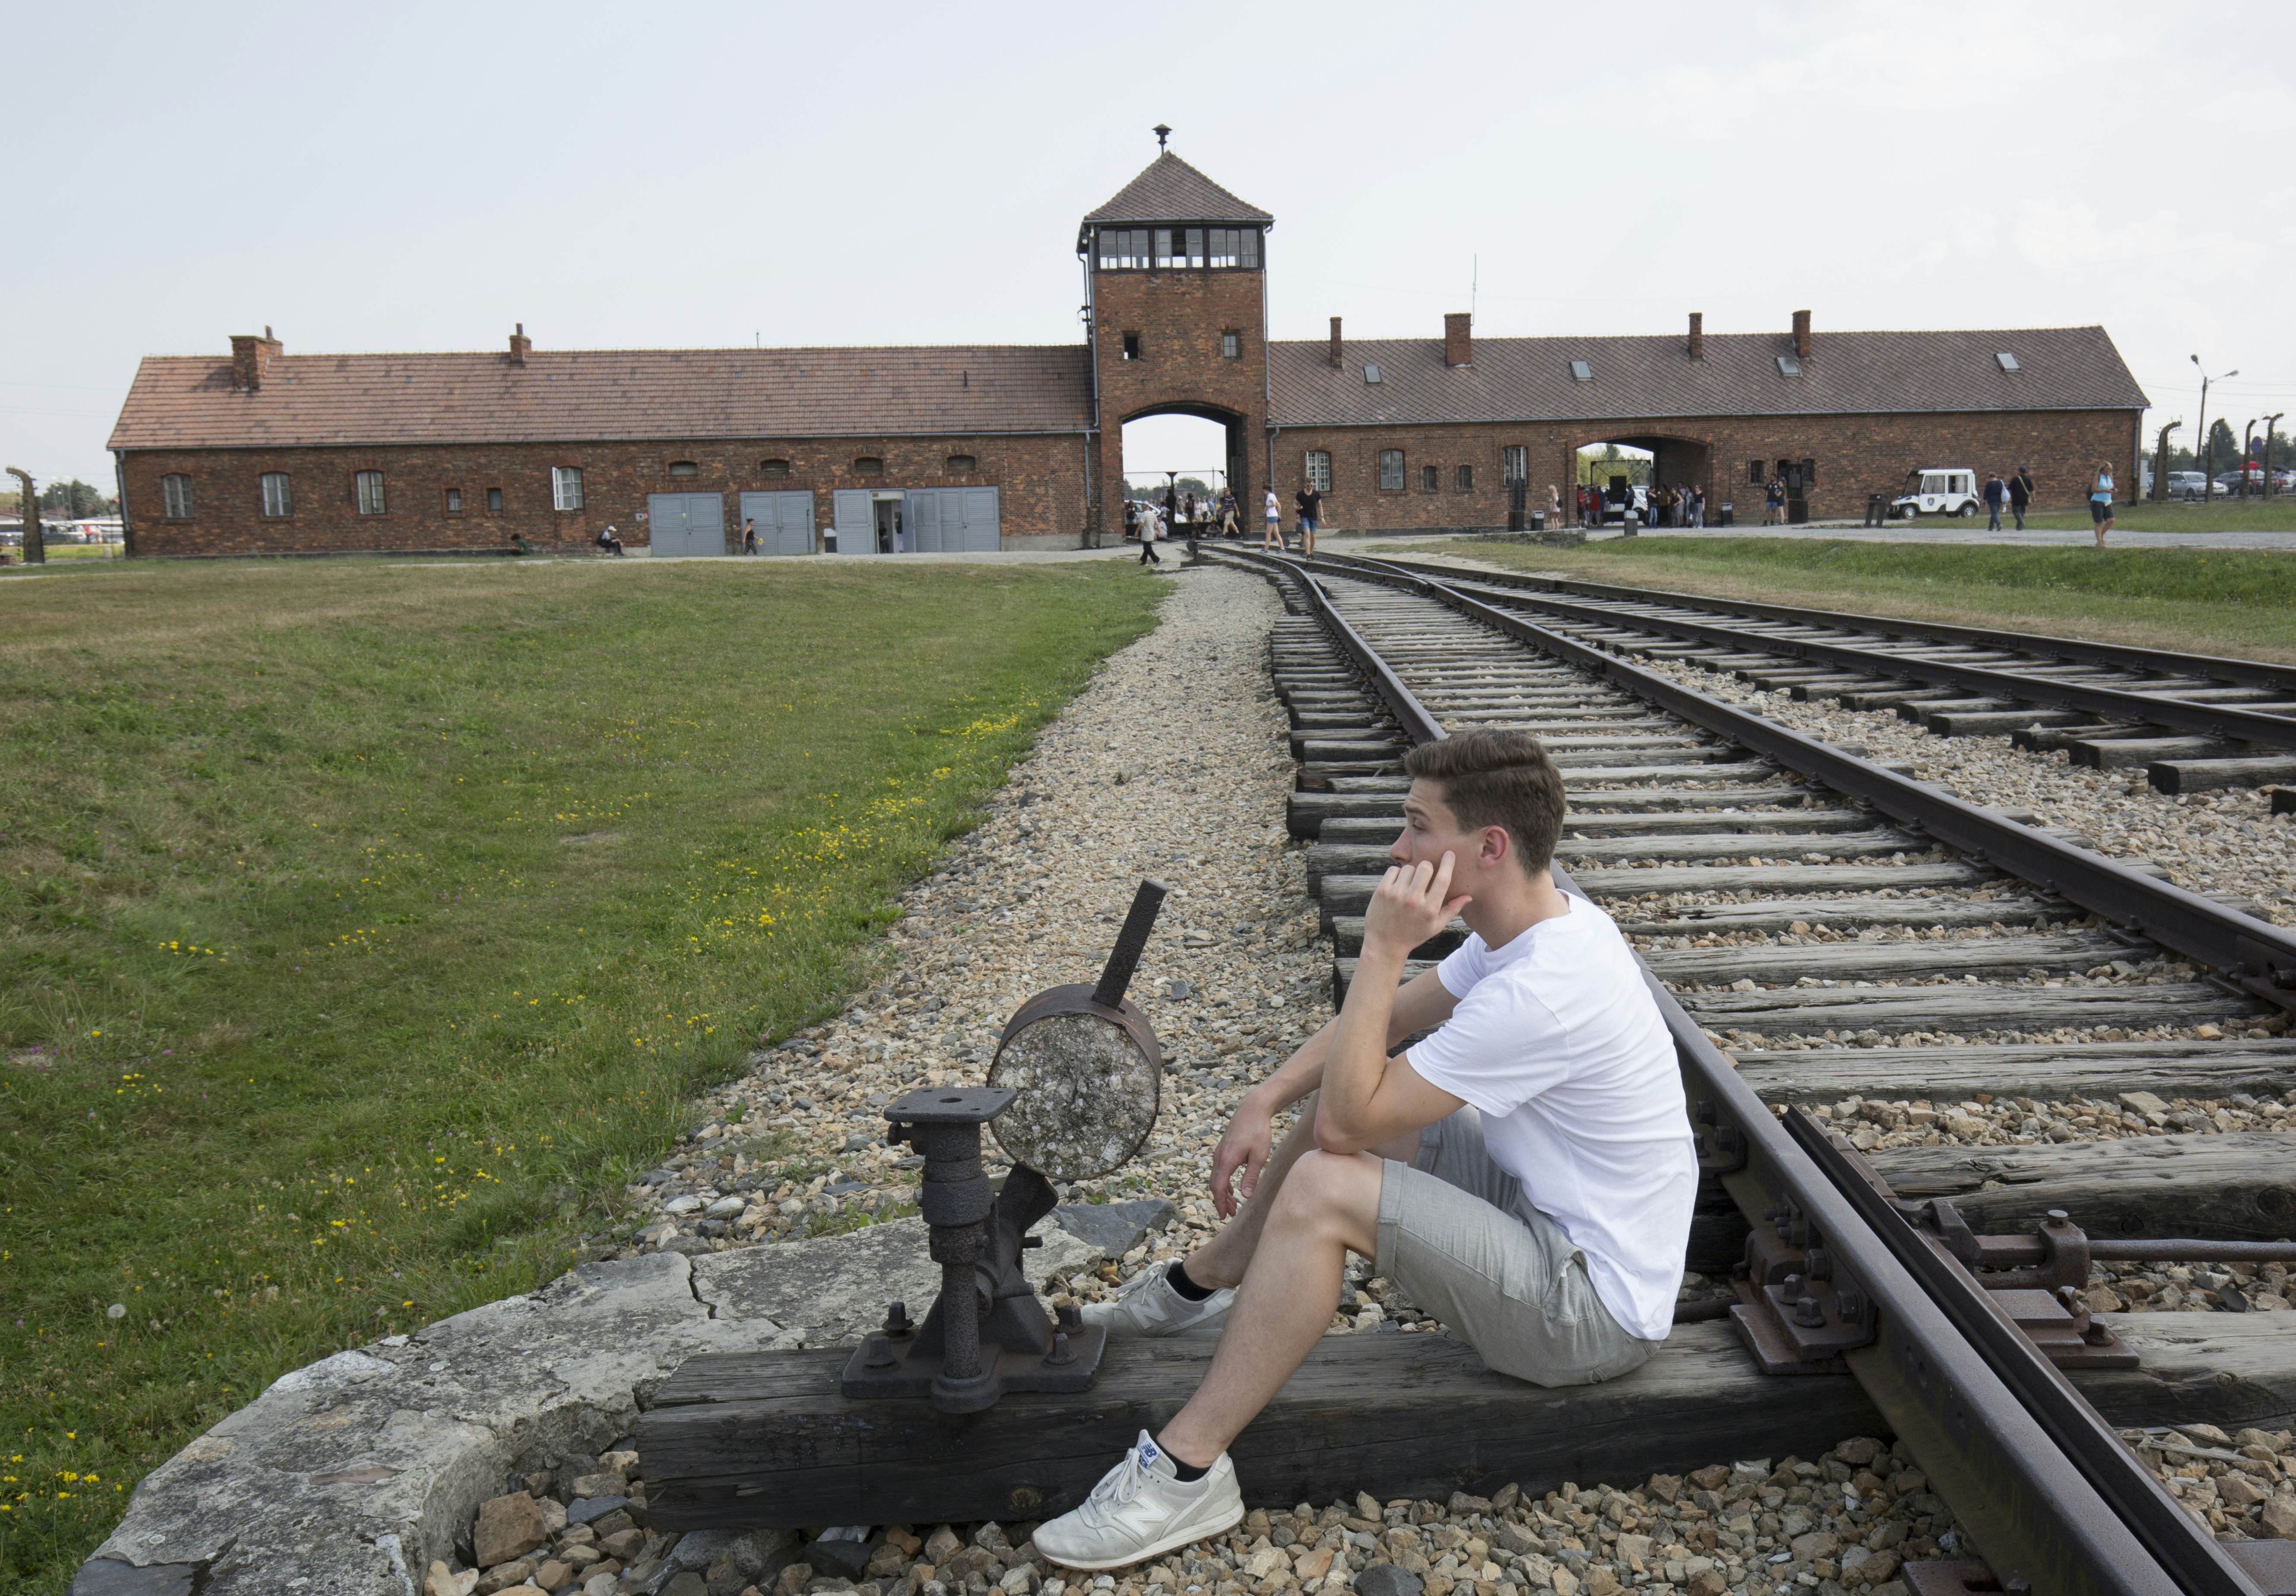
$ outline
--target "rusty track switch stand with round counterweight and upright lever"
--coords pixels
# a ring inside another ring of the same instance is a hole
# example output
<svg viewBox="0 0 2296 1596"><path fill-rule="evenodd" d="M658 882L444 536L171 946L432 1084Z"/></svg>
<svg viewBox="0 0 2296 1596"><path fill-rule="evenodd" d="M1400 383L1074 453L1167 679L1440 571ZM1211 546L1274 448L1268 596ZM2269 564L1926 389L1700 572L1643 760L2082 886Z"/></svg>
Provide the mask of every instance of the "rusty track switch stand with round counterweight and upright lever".
<svg viewBox="0 0 2296 1596"><path fill-rule="evenodd" d="M1162 882L1141 882L1100 981L1052 987L1015 1010L987 1086L923 1086L884 1107L889 1141L925 1155L918 1208L941 1293L921 1325L905 1302L891 1304L884 1330L845 1362L845 1396L980 1412L1006 1392L1091 1389L1107 1327L1072 1307L1045 1314L1019 1258L1058 1201L1047 1176L1120 1169L1155 1130L1164 1054L1125 987L1162 905ZM1003 1190L980 1164L980 1128L992 1121L1013 1157Z"/></svg>

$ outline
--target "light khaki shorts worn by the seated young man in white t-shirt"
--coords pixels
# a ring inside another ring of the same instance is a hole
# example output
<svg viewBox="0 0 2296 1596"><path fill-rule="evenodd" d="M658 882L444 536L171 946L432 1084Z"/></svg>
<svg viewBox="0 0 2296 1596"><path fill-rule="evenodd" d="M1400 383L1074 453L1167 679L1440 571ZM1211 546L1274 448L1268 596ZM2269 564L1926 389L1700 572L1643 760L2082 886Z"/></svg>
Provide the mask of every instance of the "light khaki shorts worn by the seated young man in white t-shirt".
<svg viewBox="0 0 2296 1596"><path fill-rule="evenodd" d="M1486 1364L1531 1385L1614 1380L1660 1346L1609 1316L1587 1254L1490 1162L1474 1109L1421 1130L1410 1164L1382 1162L1373 1268Z"/></svg>

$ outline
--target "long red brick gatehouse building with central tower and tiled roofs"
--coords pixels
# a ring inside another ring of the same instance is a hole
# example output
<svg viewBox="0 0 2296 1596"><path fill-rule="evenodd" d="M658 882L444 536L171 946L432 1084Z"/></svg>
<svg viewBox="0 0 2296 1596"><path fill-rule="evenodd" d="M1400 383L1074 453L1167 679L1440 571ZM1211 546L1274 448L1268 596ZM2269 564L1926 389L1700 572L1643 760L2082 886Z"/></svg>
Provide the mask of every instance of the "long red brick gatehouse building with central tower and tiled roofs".
<svg viewBox="0 0 2296 1596"><path fill-rule="evenodd" d="M1598 443L1743 521L1779 471L1812 517L1917 466L2135 491L2147 400L2099 326L1272 344L1272 227L1159 154L1077 234L1084 344L149 356L110 439L129 551L1072 547L1118 524L1123 425L1171 413L1226 427L1247 524L1313 480L1339 528L1502 526L1515 478L1568 501Z"/></svg>

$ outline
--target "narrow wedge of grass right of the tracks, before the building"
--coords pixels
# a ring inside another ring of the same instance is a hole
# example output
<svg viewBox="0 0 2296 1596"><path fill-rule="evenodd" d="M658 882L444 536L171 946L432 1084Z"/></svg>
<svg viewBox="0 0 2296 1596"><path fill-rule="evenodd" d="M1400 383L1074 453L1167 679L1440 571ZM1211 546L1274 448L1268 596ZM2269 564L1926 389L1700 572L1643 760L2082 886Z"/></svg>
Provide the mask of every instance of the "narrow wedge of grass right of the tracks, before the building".
<svg viewBox="0 0 2296 1596"><path fill-rule="evenodd" d="M1384 547L1711 597L2296 661L2296 553L1665 535L1582 549L1476 537Z"/></svg>

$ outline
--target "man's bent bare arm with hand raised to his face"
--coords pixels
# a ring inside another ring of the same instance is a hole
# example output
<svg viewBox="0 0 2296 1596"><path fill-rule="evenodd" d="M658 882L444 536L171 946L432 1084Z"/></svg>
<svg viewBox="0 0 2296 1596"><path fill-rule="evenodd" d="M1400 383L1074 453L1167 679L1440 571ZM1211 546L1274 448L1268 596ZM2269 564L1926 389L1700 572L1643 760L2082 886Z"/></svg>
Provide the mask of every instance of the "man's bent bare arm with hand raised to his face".
<svg viewBox="0 0 2296 1596"><path fill-rule="evenodd" d="M1467 898L1451 898L1451 854L1440 866L1394 866L1371 893L1364 951L1334 1024L1316 1102L1316 1146L1325 1153L1362 1153L1463 1107L1463 1098L1430 1086L1407 1059L1389 1059L1387 1038L1405 958L1465 905Z"/></svg>

